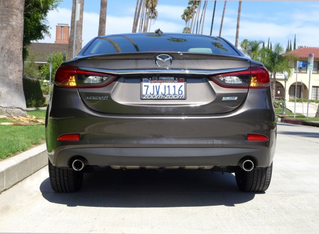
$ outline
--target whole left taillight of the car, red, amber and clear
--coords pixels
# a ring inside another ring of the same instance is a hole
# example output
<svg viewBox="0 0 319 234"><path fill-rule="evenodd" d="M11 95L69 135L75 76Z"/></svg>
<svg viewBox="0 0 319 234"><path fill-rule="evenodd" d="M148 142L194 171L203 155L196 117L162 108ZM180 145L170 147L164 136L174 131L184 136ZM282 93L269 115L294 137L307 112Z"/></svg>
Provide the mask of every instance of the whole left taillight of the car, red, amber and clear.
<svg viewBox="0 0 319 234"><path fill-rule="evenodd" d="M99 88L107 86L116 76L80 70L72 66L60 66L55 73L56 86L65 88Z"/></svg>

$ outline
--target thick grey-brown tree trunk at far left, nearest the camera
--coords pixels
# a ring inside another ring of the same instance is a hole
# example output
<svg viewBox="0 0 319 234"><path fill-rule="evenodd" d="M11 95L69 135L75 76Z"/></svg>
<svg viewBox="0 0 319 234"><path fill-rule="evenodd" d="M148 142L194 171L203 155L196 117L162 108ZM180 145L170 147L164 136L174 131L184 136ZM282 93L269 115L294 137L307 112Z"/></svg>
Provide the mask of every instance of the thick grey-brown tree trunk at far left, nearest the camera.
<svg viewBox="0 0 319 234"><path fill-rule="evenodd" d="M25 0L0 1L0 115L26 116L22 87L24 8Z"/></svg>

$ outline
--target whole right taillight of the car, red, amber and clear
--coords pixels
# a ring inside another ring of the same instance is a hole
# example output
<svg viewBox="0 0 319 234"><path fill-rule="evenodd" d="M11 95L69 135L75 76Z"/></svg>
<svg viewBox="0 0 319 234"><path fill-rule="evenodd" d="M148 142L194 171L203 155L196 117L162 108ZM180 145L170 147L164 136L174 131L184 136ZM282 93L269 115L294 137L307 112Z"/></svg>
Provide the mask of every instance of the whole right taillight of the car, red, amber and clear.
<svg viewBox="0 0 319 234"><path fill-rule="evenodd" d="M270 77L265 67L253 67L244 71L211 75L210 78L224 88L264 88L270 85Z"/></svg>

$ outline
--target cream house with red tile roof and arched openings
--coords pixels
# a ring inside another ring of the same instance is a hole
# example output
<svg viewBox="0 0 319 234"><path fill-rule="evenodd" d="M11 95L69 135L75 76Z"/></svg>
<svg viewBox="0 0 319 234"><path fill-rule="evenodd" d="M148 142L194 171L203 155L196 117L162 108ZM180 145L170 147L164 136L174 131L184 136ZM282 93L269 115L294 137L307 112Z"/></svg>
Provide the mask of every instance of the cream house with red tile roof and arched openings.
<svg viewBox="0 0 319 234"><path fill-rule="evenodd" d="M309 92L310 100L319 100L319 47L301 47L288 53L298 57L298 61L290 61L292 75L288 77L286 83L286 100L294 99L295 96L307 99ZM313 71L307 71L308 55L311 53L314 54ZM284 85L283 74L276 74L276 98L284 98Z"/></svg>

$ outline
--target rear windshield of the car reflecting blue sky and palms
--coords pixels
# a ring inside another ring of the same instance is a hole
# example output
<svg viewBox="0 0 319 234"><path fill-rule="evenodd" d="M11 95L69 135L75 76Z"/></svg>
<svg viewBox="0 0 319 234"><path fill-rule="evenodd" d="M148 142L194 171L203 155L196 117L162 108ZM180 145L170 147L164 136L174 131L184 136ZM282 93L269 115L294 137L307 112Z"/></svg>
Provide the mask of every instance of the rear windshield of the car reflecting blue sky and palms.
<svg viewBox="0 0 319 234"><path fill-rule="evenodd" d="M192 52L239 55L227 42L218 37L187 34L130 34L100 37L94 40L83 55L131 52Z"/></svg>

